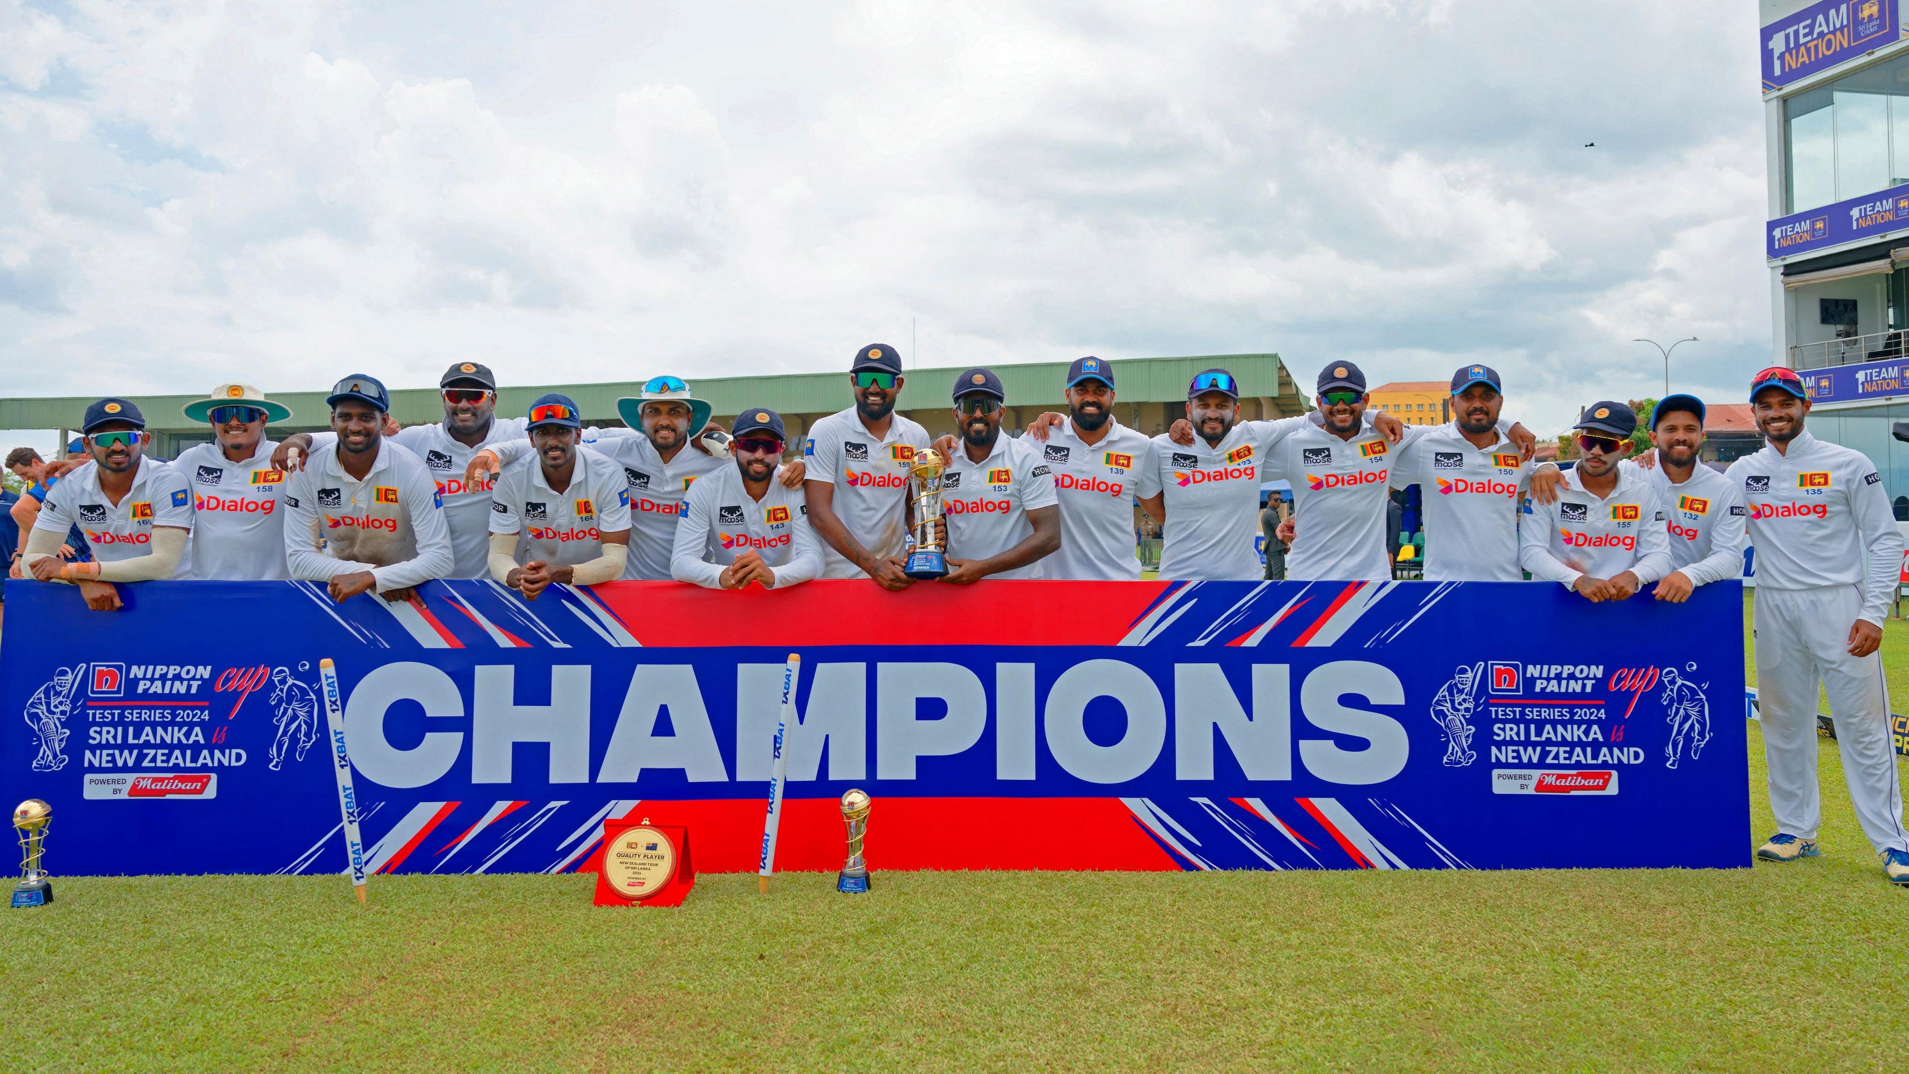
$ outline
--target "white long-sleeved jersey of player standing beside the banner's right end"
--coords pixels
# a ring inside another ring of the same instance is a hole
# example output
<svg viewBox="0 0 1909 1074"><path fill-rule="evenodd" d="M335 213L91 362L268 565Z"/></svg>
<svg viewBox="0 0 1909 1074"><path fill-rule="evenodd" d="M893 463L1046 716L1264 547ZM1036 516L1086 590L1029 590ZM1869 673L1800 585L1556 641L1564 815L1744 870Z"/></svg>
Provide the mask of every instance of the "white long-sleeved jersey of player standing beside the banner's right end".
<svg viewBox="0 0 1909 1074"><path fill-rule="evenodd" d="M1758 589L1856 585L1863 591L1861 617L1882 623L1903 539L1869 457L1804 430L1787 453L1764 443L1724 476L1743 489L1749 506Z"/></svg>

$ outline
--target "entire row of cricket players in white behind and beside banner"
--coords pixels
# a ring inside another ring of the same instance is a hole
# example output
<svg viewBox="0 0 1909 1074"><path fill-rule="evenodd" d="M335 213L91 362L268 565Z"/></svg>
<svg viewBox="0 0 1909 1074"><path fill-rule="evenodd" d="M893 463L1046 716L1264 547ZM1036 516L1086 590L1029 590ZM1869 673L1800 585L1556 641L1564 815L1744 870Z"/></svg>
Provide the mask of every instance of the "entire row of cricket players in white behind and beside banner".
<svg viewBox="0 0 1909 1074"><path fill-rule="evenodd" d="M905 380L893 348L861 348L851 405L815 420L787 462L777 411L745 407L722 430L676 376L617 401L628 428L586 428L561 394L498 417L491 369L458 363L439 382L445 419L397 428L384 384L353 375L326 397L330 432L279 441L267 426L290 411L250 384L221 384L185 407L214 440L170 462L143 455L151 438L130 399L99 399L80 422L82 461L8 459L34 480L11 508L27 537L10 573L71 583L99 612L122 606L115 583L155 579L313 581L338 602L481 577L523 600L617 579L872 579L890 591L926 579L1136 581L1138 505L1164 533L1159 579L1260 579L1243 535L1262 482L1285 480L1285 577L1369 583L1392 581L1390 489L1420 485L1434 583L1529 577L1590 602L1646 589L1684 602L1741 577L1754 545L1777 822L1756 854L1817 854L1821 684L1863 833L1888 879L1909 885L1878 655L1903 541L1875 466L1806 432L1794 371L1752 378L1764 447L1728 472L1699 459L1705 403L1688 394L1646 415L1655 449L1642 459L1626 459L1640 415L1605 399L1575 426L1575 466L1533 462L1537 440L1500 419L1502 384L1485 365L1453 375L1443 426L1371 409L1350 361L1321 369L1315 411L1239 420L1237 380L1208 369L1187 384L1185 419L1161 436L1113 417L1103 359L1073 361L1067 413L1042 413L1025 436L1002 436L1002 382L970 369L951 390L960 436L934 443L895 413Z"/></svg>

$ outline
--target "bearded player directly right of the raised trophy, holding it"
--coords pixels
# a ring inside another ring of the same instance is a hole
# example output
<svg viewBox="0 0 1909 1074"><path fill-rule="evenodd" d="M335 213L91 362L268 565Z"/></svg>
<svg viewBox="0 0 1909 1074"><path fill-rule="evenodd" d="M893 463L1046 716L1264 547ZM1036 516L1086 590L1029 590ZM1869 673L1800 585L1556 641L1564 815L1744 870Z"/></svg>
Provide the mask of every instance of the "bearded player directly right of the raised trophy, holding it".
<svg viewBox="0 0 1909 1074"><path fill-rule="evenodd" d="M960 447L941 474L949 529L949 573L941 581L1046 577L1044 558L1061 547L1052 470L1033 447L1000 436L1006 397L991 369L968 369L954 378Z"/></svg>

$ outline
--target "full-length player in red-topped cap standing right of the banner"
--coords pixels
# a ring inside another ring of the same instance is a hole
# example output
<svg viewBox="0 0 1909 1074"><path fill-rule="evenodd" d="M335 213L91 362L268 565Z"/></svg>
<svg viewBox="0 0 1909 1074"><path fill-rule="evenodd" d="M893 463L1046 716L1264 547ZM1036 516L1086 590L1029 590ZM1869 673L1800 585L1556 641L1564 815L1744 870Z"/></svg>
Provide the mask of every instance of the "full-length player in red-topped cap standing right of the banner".
<svg viewBox="0 0 1909 1074"><path fill-rule="evenodd" d="M1857 451L1804 430L1810 399L1794 371L1751 380L1764 447L1724 474L1743 489L1756 548L1756 698L1777 833L1756 856L1817 856L1817 684L1836 722L1856 820L1892 883L1909 885L1909 835L1890 745L1882 617L1903 562L1882 476Z"/></svg>

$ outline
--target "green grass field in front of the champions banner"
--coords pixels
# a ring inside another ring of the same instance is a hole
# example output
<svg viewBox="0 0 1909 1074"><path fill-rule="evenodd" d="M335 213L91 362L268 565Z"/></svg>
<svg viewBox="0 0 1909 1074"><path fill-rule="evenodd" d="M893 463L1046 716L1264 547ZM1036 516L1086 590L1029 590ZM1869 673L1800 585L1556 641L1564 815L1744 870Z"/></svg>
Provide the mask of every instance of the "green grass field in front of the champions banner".
<svg viewBox="0 0 1909 1074"><path fill-rule="evenodd" d="M1909 625L1884 654L1909 675ZM1825 856L1737 871L878 873L867 898L704 875L670 912L596 910L580 875L382 877L368 908L340 879L67 879L4 919L8 1051L21 1070L1878 1070L1901 1053L1909 892L1823 745ZM1754 724L1749 764L1762 837Z"/></svg>

